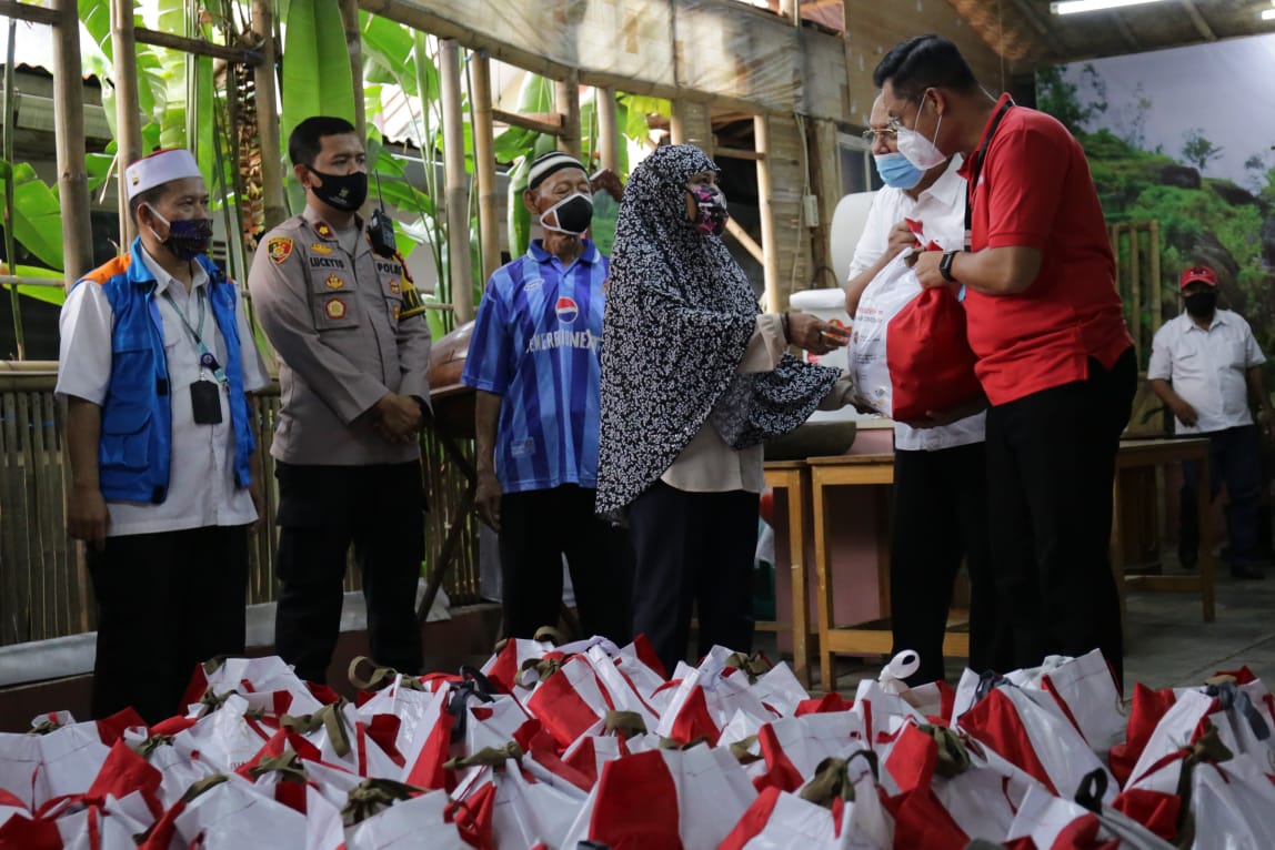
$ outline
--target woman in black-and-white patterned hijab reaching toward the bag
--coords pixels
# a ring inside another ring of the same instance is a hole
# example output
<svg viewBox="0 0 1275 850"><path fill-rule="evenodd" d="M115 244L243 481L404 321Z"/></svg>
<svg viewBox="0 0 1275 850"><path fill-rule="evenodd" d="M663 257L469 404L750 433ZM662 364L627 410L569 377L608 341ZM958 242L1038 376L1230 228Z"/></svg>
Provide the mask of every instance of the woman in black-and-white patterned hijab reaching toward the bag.
<svg viewBox="0 0 1275 850"><path fill-rule="evenodd" d="M844 345L829 325L760 313L719 238L717 173L694 145L659 148L634 169L602 331L598 511L627 515L634 632L668 673L686 655L692 604L701 654L751 649L761 445L850 395L836 370L787 353Z"/></svg>

